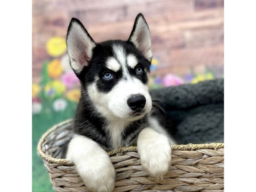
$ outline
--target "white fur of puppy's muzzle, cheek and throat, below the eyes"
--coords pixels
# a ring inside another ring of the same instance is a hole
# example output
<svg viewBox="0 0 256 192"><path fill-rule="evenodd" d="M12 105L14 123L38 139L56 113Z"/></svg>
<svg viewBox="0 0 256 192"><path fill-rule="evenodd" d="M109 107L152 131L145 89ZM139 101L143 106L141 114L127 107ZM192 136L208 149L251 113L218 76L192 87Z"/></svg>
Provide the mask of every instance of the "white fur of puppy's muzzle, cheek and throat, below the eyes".
<svg viewBox="0 0 256 192"><path fill-rule="evenodd" d="M103 128L111 135L112 147L127 145L122 141L125 127L151 111L152 101L148 86L139 79L129 76L127 80L119 81L108 93L99 92L96 82L90 84L87 90L96 111L107 119ZM133 94L142 94L146 98L145 111L140 116L130 116L133 110L128 106L127 100Z"/></svg>

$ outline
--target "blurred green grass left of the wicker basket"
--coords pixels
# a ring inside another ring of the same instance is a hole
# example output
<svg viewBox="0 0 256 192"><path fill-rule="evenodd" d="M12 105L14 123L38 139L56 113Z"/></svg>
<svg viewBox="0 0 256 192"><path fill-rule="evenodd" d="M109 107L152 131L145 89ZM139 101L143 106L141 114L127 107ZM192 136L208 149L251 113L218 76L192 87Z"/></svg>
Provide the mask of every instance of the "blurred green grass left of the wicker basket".
<svg viewBox="0 0 256 192"><path fill-rule="evenodd" d="M47 109L48 108L48 113ZM44 104L40 114L32 115L32 191L52 192L52 184L49 180L47 169L41 157L36 152L37 144L45 131L65 119L73 118L76 111L76 104L68 102L67 109L55 112L50 108L49 103Z"/></svg>

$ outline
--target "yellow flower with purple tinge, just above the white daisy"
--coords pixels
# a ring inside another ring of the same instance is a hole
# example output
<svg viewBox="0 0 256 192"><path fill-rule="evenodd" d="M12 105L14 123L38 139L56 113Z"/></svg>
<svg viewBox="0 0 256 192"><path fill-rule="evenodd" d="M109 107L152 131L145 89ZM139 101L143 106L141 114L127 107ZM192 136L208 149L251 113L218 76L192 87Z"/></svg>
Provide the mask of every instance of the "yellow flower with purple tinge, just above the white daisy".
<svg viewBox="0 0 256 192"><path fill-rule="evenodd" d="M47 96L54 97L56 95L61 96L66 90L65 85L59 81L54 80L45 85L44 91Z"/></svg>

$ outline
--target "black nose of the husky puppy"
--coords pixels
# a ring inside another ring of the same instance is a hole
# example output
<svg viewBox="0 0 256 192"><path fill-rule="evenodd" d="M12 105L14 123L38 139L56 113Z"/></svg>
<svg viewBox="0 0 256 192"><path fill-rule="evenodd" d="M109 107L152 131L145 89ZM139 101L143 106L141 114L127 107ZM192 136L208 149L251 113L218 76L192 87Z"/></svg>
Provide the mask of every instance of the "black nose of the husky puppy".
<svg viewBox="0 0 256 192"><path fill-rule="evenodd" d="M146 98L141 94L131 95L127 100L128 106L134 111L140 111L145 107Z"/></svg>

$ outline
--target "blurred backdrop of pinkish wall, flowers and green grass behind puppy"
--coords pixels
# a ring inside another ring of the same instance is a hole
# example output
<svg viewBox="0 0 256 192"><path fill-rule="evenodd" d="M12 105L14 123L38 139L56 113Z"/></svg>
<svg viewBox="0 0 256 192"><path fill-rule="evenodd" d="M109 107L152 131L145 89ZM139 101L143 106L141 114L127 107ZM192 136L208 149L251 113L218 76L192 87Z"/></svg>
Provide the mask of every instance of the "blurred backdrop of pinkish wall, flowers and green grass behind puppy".
<svg viewBox="0 0 256 192"><path fill-rule="evenodd" d="M224 0L33 0L32 191L52 191L36 145L74 116L80 96L65 42L70 19L81 20L96 42L127 40L140 12L151 31L152 89L223 77Z"/></svg>

